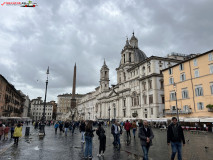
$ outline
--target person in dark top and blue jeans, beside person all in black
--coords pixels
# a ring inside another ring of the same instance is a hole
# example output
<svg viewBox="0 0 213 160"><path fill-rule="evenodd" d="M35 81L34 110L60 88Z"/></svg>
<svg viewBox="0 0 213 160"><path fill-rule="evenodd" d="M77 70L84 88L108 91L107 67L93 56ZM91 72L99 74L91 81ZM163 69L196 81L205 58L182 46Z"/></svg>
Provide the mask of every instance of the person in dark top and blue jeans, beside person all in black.
<svg viewBox="0 0 213 160"><path fill-rule="evenodd" d="M86 141L86 147L84 152L84 158L92 159L92 139L94 137L93 132L95 131L92 128L93 122L89 121L85 128L85 141Z"/></svg>

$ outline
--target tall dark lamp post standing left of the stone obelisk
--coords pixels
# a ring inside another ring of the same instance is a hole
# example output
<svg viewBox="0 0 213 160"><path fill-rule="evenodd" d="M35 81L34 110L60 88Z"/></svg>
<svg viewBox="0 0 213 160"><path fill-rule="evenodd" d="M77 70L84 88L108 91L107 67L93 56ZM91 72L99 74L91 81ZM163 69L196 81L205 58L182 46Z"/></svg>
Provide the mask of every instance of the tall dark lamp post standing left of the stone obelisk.
<svg viewBox="0 0 213 160"><path fill-rule="evenodd" d="M45 115L45 111L46 111L46 99L47 99L47 85L48 85L48 74L49 74L49 66L47 69L47 80L46 80L46 88L45 88L45 98L44 98L44 108L43 108L43 116L42 116L42 124L41 124L41 128L39 131L39 135L40 136L45 136L45 120L46 120L46 115Z"/></svg>

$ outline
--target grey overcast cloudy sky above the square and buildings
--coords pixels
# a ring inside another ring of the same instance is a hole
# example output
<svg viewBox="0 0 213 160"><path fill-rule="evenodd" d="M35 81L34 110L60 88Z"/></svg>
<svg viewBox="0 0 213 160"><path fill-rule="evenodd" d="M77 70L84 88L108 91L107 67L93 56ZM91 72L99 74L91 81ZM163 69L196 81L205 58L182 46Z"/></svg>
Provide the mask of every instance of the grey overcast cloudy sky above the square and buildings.
<svg viewBox="0 0 213 160"><path fill-rule="evenodd" d="M115 84L120 52L133 30L147 56L213 49L212 0L33 2L38 6L0 6L0 74L30 99L44 97L48 66L48 100L72 92L75 62L78 93L99 85L104 58Z"/></svg>

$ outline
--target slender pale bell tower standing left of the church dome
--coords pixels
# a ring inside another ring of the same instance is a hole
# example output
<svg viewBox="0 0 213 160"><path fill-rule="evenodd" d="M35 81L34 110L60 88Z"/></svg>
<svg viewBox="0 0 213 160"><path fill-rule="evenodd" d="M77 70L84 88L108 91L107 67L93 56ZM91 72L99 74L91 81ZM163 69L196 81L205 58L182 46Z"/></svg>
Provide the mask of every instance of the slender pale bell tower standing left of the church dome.
<svg viewBox="0 0 213 160"><path fill-rule="evenodd" d="M101 87L101 92L109 90L109 68L106 65L105 59L104 59L104 65L102 66L100 71L100 87Z"/></svg>

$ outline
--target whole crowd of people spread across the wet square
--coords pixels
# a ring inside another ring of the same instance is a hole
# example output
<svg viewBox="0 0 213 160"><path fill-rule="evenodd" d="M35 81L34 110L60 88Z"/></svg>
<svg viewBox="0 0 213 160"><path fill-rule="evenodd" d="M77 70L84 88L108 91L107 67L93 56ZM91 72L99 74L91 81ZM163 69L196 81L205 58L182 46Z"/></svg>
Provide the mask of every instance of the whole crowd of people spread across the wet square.
<svg viewBox="0 0 213 160"><path fill-rule="evenodd" d="M25 122L26 123L26 122ZM29 123L29 122L28 122ZM28 125L28 123L26 123ZM112 123L112 124L111 124ZM39 129L41 126L40 121L33 121L35 129ZM152 140L154 138L153 131L151 126L146 120L144 121L132 121L129 122L118 122L118 121L106 121L106 122L93 122L93 121L47 121L46 125L53 125L55 128L55 134L64 133L67 136L68 131L74 134L75 129L79 130L81 133L81 143L85 144L84 156L83 158L92 159L92 146L93 146L93 137L95 136L94 132L99 139L99 151L97 156L104 156L106 150L106 135L105 129L107 126L111 126L111 134L114 138L112 144L114 148L117 148L119 151L121 148L120 136L125 134L126 143L129 145L131 143L131 130L133 137L136 137L136 131L138 131L138 137L140 139L141 149L143 151L144 160L148 160L149 148L152 146ZM14 144L18 145L19 138L22 137L22 126L23 123L2 123L0 122L0 141L7 141L9 138L14 139ZM94 126L97 126L94 128ZM172 118L172 123L168 126L167 129L167 143L171 144L172 154L171 160L175 159L176 153L178 153L178 160L182 160L182 143L185 145L184 133L181 125L177 122L177 118Z"/></svg>

